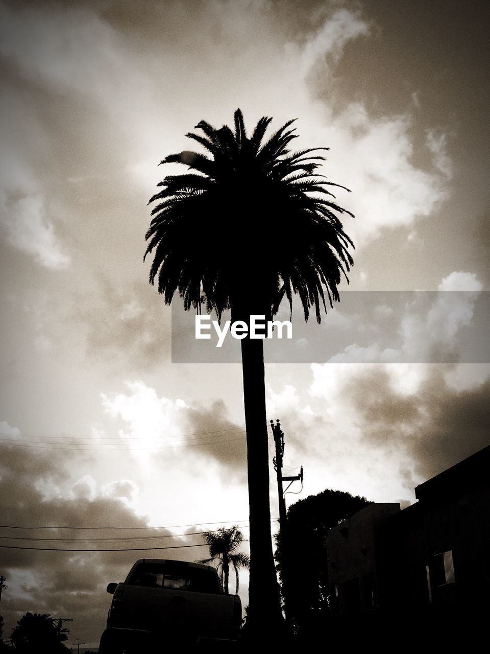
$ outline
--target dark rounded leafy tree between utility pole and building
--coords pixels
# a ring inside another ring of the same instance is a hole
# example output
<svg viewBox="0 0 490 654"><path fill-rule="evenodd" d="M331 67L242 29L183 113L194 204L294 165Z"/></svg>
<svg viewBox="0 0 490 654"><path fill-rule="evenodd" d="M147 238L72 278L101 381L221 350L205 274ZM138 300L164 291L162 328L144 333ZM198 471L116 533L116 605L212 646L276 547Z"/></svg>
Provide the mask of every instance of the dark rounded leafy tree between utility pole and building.
<svg viewBox="0 0 490 654"><path fill-rule="evenodd" d="M342 490L323 490L291 505L287 510L287 549L281 534L276 536L275 559L295 574L287 576L287 612L300 636L312 636L325 629L329 615L329 572L327 534L370 504L365 497ZM304 553L307 556L304 556Z"/></svg>

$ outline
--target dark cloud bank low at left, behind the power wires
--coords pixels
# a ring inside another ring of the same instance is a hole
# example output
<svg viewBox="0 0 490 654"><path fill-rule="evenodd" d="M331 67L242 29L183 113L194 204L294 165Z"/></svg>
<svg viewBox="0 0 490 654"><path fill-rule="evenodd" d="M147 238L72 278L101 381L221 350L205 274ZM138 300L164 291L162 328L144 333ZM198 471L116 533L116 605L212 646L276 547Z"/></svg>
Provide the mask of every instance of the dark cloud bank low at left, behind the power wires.
<svg viewBox="0 0 490 654"><path fill-rule="evenodd" d="M56 488L69 481L61 453L42 449L20 449L5 445L1 449L0 464L0 523L2 525L29 526L29 530L0 528L1 536L18 537L18 540L0 538L1 545L10 547L56 547L70 549L135 548L147 545L184 545L199 542L194 537L162 538L154 540L121 540L122 536L138 537L139 531L110 530L35 530L35 526L147 526L144 517L138 517L120 499L112 496L88 497L84 484L73 487L73 497L55 496L46 499L42 485ZM131 482L116 481L110 487L118 496L131 491ZM158 536L171 534L159 530ZM145 536L154 533L144 532ZM39 541L24 538L110 538L90 541ZM148 544L149 543L149 544ZM172 549L146 553L129 552L50 552L29 549L0 548L0 572L7 577L8 589L2 596L2 614L5 633L26 611L51 613L56 617L73 617L69 626L73 634L86 642L96 642L105 627L110 596L105 592L107 583L121 581L129 568L143 556L168 556L172 559L193 560L194 549ZM199 550L200 552L201 550Z"/></svg>

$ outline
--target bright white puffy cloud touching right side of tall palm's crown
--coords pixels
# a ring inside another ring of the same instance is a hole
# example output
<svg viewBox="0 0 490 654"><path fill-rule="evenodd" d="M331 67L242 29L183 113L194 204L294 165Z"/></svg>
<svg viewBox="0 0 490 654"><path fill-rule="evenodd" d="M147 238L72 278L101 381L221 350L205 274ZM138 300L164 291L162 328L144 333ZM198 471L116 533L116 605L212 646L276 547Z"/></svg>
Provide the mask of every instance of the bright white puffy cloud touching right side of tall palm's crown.
<svg viewBox="0 0 490 654"><path fill-rule="evenodd" d="M427 145L429 170L417 167L409 114L380 118L362 103L351 103L331 122L323 133L331 146L329 159L335 156L334 181L353 190L346 201L357 216L348 228L356 248L365 247L382 230L413 226L448 198L451 173L445 141L439 139L437 150L433 141Z"/></svg>

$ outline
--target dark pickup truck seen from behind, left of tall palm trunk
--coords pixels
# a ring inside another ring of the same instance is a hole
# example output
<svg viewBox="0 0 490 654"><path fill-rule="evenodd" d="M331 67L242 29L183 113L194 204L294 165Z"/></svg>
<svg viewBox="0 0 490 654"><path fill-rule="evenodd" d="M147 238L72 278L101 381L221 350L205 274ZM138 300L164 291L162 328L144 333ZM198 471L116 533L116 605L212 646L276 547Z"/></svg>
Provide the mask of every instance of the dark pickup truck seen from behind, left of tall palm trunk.
<svg viewBox="0 0 490 654"><path fill-rule="evenodd" d="M211 566L139 559L113 595L100 654L163 651L208 639L236 640L242 623L238 595L225 595Z"/></svg>

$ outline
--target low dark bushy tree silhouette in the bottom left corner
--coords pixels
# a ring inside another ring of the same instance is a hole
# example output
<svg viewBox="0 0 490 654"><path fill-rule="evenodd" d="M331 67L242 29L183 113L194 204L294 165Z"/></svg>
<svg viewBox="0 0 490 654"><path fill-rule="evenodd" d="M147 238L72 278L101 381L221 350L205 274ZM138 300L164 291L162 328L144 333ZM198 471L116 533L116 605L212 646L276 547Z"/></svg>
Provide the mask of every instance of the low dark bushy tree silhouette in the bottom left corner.
<svg viewBox="0 0 490 654"><path fill-rule="evenodd" d="M47 651L62 654L70 650L63 645L67 629L55 624L49 613L25 613L12 630L10 638L14 650L21 654Z"/></svg>

